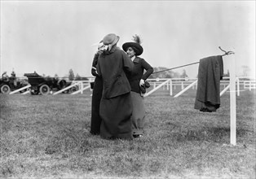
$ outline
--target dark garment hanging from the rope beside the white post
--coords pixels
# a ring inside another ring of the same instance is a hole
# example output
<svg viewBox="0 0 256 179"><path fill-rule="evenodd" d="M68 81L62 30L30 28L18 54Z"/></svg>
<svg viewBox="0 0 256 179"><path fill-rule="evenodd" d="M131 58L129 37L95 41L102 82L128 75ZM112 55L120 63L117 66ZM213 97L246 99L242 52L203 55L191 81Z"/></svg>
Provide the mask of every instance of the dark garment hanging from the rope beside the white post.
<svg viewBox="0 0 256 179"><path fill-rule="evenodd" d="M196 90L195 109L216 111L220 106L219 85L223 78L223 57L221 55L200 59Z"/></svg>

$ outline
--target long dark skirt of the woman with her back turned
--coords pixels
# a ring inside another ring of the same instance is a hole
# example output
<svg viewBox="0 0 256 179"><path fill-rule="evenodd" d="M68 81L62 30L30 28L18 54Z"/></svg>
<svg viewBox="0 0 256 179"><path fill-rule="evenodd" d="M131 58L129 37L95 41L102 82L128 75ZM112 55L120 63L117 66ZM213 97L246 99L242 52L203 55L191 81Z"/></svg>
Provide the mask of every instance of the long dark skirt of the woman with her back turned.
<svg viewBox="0 0 256 179"><path fill-rule="evenodd" d="M131 133L132 102L130 93L115 98L102 98L99 114L101 138L133 139Z"/></svg>

